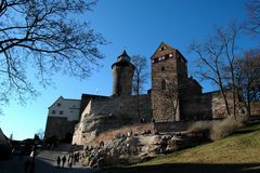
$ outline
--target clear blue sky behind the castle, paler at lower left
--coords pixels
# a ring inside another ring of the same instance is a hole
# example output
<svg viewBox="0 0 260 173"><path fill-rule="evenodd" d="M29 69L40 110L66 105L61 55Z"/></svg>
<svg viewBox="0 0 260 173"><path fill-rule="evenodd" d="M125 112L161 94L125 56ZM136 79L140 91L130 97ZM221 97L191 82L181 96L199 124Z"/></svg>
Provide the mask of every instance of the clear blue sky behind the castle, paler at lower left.
<svg viewBox="0 0 260 173"><path fill-rule="evenodd" d="M53 86L43 89L36 85L41 95L28 101L26 106L15 102L3 106L0 128L6 136L13 133L16 139L32 137L39 129L44 130L48 107L61 95L65 98L80 98L82 93L110 95L110 65L123 49L130 56L140 54L150 58L160 42L165 41L182 52L188 61L188 72L192 75L195 56L188 52L190 43L205 39L214 26L224 26L233 18L244 21L245 2L246 0L100 0L93 12L80 19L90 22L93 29L109 42L101 46L105 55L101 61L103 67L93 70L92 77L87 80L57 74L53 77ZM213 90L208 82L203 82L202 85L204 91Z"/></svg>

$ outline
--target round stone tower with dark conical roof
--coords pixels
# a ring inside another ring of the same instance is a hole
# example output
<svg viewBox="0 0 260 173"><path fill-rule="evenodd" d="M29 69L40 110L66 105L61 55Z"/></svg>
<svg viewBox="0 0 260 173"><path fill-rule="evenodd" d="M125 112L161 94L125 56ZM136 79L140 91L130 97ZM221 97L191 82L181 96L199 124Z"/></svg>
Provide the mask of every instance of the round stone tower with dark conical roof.
<svg viewBox="0 0 260 173"><path fill-rule="evenodd" d="M134 65L126 51L117 57L112 65L113 69L113 96L130 96L132 93L132 77Z"/></svg>

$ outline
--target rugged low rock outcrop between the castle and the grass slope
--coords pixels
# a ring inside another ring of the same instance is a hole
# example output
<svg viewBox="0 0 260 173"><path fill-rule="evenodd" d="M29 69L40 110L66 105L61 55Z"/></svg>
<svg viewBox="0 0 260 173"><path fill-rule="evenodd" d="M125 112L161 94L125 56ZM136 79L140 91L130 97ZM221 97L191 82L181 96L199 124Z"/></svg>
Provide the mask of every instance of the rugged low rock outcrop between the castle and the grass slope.
<svg viewBox="0 0 260 173"><path fill-rule="evenodd" d="M195 141L196 138L196 141ZM88 167L112 167L140 163L160 154L198 145L204 142L195 134L118 134L102 147L84 150L81 162ZM102 163L99 162L102 160Z"/></svg>

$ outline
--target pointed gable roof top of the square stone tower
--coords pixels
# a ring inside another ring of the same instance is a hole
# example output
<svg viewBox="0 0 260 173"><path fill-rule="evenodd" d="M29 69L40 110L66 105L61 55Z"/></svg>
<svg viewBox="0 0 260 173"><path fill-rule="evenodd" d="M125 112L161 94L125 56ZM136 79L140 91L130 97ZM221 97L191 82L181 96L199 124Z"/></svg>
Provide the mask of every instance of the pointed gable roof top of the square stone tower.
<svg viewBox="0 0 260 173"><path fill-rule="evenodd" d="M179 50L171 48L170 45L168 45L165 42L161 42L159 44L159 46L157 48L157 50L155 51L155 53L151 56L151 59L158 58L160 56L165 56L167 54L176 53L176 52L181 54L181 52ZM180 58L182 58L185 63L187 62L186 58L182 54L181 54Z"/></svg>

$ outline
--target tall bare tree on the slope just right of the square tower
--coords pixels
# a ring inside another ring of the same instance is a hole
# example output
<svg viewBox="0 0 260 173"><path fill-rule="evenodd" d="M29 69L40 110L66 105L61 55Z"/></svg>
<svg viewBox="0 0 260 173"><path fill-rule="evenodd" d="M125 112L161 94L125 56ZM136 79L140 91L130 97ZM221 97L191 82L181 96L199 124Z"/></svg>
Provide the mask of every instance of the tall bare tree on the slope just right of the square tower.
<svg viewBox="0 0 260 173"><path fill-rule="evenodd" d="M237 104L234 61L237 56L236 41L242 28L242 25L232 22L225 28L217 28L213 35L209 36L204 43L191 44L191 50L198 55L198 74L200 78L210 80L219 86L224 98L227 115L231 115L231 111L225 89L230 84L233 95L233 116L236 115Z"/></svg>

